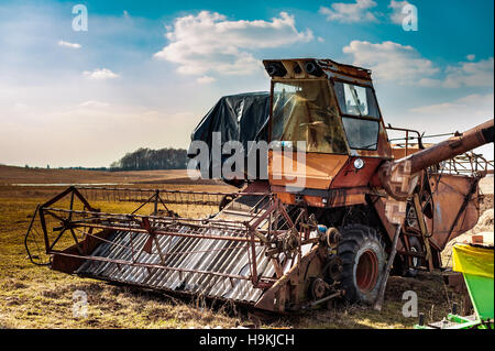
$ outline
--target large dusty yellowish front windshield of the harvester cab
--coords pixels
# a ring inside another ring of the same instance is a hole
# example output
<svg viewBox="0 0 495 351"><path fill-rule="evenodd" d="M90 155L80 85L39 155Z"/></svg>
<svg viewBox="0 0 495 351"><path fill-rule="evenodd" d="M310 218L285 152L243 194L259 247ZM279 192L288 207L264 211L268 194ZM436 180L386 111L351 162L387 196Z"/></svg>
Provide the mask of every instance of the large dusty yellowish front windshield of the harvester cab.
<svg viewBox="0 0 495 351"><path fill-rule="evenodd" d="M273 86L272 141L294 145L306 141L307 152L348 152L338 108L328 80L286 80Z"/></svg>

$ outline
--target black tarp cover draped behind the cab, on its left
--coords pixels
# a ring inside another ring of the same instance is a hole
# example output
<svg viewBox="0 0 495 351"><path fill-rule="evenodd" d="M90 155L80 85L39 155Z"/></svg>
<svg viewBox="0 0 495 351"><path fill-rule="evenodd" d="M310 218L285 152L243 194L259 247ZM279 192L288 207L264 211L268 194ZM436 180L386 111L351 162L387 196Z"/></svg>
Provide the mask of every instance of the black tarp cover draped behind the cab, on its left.
<svg viewBox="0 0 495 351"><path fill-rule="evenodd" d="M266 141L268 138L270 92L245 92L222 97L202 118L191 133L193 141L204 141L210 150L210 176L212 160L212 133L220 132L221 144L228 141L240 141L248 157L249 141ZM193 145L191 145L193 146ZM197 151L189 147L188 156L197 156ZM230 155L222 155L221 163ZM245 167L244 167L245 168ZM246 168L245 168L246 169ZM205 176L205 175L202 175Z"/></svg>

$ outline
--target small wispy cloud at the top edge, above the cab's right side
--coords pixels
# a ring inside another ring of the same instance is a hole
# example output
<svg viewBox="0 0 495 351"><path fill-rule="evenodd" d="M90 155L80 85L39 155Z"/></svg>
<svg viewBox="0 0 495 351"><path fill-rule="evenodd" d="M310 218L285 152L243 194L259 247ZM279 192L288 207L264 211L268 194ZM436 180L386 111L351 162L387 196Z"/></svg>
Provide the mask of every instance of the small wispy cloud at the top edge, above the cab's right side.
<svg viewBox="0 0 495 351"><path fill-rule="evenodd" d="M374 7L376 7L376 2L373 0L355 0L353 3L334 2L331 9L321 7L319 12L324 14L328 21L376 22L376 15L370 11Z"/></svg>

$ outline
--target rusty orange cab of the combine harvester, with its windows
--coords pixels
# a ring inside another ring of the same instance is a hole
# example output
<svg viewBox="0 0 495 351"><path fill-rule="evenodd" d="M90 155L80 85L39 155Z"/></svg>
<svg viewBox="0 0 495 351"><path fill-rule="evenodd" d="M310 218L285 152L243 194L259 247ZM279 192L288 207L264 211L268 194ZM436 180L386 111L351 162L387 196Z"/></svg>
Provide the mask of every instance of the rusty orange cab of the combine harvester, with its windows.
<svg viewBox="0 0 495 351"><path fill-rule="evenodd" d="M295 178L304 183L299 195L355 188L370 183L382 161L392 160L370 70L330 59L264 65L272 77L270 138L275 145L268 176L284 202L295 204ZM308 205L314 201L306 197Z"/></svg>

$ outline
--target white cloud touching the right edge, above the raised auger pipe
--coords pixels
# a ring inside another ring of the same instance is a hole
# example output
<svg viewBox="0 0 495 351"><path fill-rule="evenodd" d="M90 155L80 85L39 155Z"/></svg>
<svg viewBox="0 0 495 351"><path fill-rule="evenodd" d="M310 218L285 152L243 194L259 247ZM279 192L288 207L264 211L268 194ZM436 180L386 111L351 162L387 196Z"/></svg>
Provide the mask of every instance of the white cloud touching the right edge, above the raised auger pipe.
<svg viewBox="0 0 495 351"><path fill-rule="evenodd" d="M494 61L490 57L479 62L461 62L447 67L446 73L444 88L493 87Z"/></svg>

